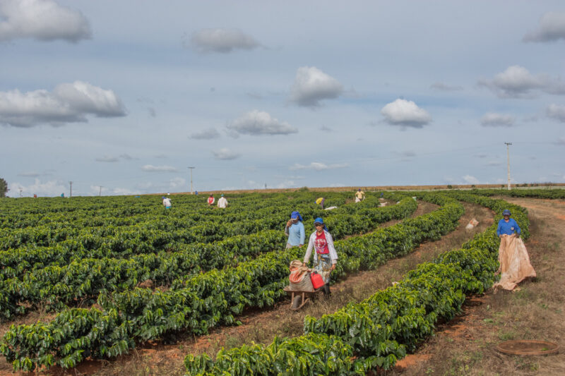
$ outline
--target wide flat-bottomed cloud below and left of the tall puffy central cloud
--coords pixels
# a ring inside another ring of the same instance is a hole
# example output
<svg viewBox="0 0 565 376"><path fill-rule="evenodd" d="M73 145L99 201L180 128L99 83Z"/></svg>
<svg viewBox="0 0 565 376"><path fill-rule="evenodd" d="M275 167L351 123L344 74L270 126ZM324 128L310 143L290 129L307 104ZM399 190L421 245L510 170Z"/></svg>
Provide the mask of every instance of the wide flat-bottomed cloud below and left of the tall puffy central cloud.
<svg viewBox="0 0 565 376"><path fill-rule="evenodd" d="M230 133L244 135L288 135L298 133L298 129L289 123L279 121L265 111L254 109L227 125Z"/></svg>

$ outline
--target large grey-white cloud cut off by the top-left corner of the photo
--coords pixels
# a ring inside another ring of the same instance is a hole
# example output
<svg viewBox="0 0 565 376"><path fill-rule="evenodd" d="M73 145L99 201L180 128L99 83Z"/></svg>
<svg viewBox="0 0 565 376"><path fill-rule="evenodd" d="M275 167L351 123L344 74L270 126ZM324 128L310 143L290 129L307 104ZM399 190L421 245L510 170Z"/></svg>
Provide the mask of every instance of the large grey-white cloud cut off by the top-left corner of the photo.
<svg viewBox="0 0 565 376"><path fill-rule="evenodd" d="M52 0L1 0L0 40L34 38L78 42L90 38L88 20L79 11Z"/></svg>

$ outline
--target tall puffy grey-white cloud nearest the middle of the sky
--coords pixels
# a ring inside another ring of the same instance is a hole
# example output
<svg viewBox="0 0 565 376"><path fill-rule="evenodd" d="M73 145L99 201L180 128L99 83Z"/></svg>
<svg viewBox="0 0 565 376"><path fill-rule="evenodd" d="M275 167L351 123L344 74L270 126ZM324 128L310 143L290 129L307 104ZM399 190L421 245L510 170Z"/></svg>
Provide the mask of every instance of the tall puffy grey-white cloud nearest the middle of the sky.
<svg viewBox="0 0 565 376"><path fill-rule="evenodd" d="M323 99L334 99L343 93L343 85L315 66L298 68L290 91L290 102L304 107L319 107Z"/></svg>

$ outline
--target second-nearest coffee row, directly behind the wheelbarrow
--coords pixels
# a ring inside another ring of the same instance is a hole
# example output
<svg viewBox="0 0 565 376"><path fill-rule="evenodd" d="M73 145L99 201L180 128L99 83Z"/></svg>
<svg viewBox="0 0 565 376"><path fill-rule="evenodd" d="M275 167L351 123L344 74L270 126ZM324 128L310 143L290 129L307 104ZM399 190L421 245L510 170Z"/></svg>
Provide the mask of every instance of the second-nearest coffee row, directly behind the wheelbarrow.
<svg viewBox="0 0 565 376"><path fill-rule="evenodd" d="M443 231L453 229L463 212L461 205L452 199L434 197L444 201L444 205L436 212L418 217L421 222L393 226L398 234L387 228L366 236L375 236L376 242L387 248L383 253L395 255L407 252L409 245L415 245L415 240L426 238L420 230L427 228L424 222L436 222L444 226ZM406 200L415 205L411 198ZM390 238L380 234L382 231L389 231ZM408 240L402 235L406 232L410 233ZM436 236L436 231L431 236ZM349 252L340 254L343 265L337 274L363 267L357 260L364 258L368 250L359 244L355 245L357 249L347 247L347 241L353 241L350 239L335 242L338 249ZM370 242L367 246L371 246ZM179 330L203 334L220 323L234 323L235 315L245 307L272 305L281 298L287 265L290 260L302 257L303 252L293 248L284 253L261 255L234 268L174 281L168 291L134 289L101 294L98 303L103 310L71 309L51 322L11 327L0 351L13 362L15 369L31 370L37 365L54 363L69 368L86 356L109 358L133 348L136 341L163 338Z"/></svg>

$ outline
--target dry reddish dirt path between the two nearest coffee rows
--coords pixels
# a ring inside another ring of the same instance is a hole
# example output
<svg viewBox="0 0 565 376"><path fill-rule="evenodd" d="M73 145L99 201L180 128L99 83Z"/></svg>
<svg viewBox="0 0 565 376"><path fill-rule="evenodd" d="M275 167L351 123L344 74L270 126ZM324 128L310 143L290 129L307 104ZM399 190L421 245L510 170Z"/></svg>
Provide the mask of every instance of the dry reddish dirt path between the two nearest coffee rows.
<svg viewBox="0 0 565 376"><path fill-rule="evenodd" d="M421 262L432 260L446 250L456 248L472 238L477 232L484 231L493 221L493 213L477 205L463 204L465 214L459 221L458 228L441 238L440 241L423 243L413 253L405 257L391 260L376 270L359 272L347 277L332 286L331 298L320 298L297 312L289 309L290 299L275 307L248 312L239 317L242 325L237 327L220 327L210 334L199 337L181 337L177 344L167 345L161 342L149 342L138 346L128 356L121 356L111 362L106 360L86 360L78 368L61 370L53 367L47 372L28 375L184 375L184 356L188 353L207 353L213 358L220 348L232 348L251 341L269 344L274 336L299 336L306 315L319 317L325 313L333 313L350 301L362 301L379 289L390 286L403 274ZM413 217L431 212L436 205L419 202ZM465 225L472 218L480 224L472 230L465 230ZM387 222L383 226L391 226L398 221ZM25 321L37 320L34 316ZM13 375L11 365L4 358L0 359L0 375ZM25 374L24 374L25 375Z"/></svg>

